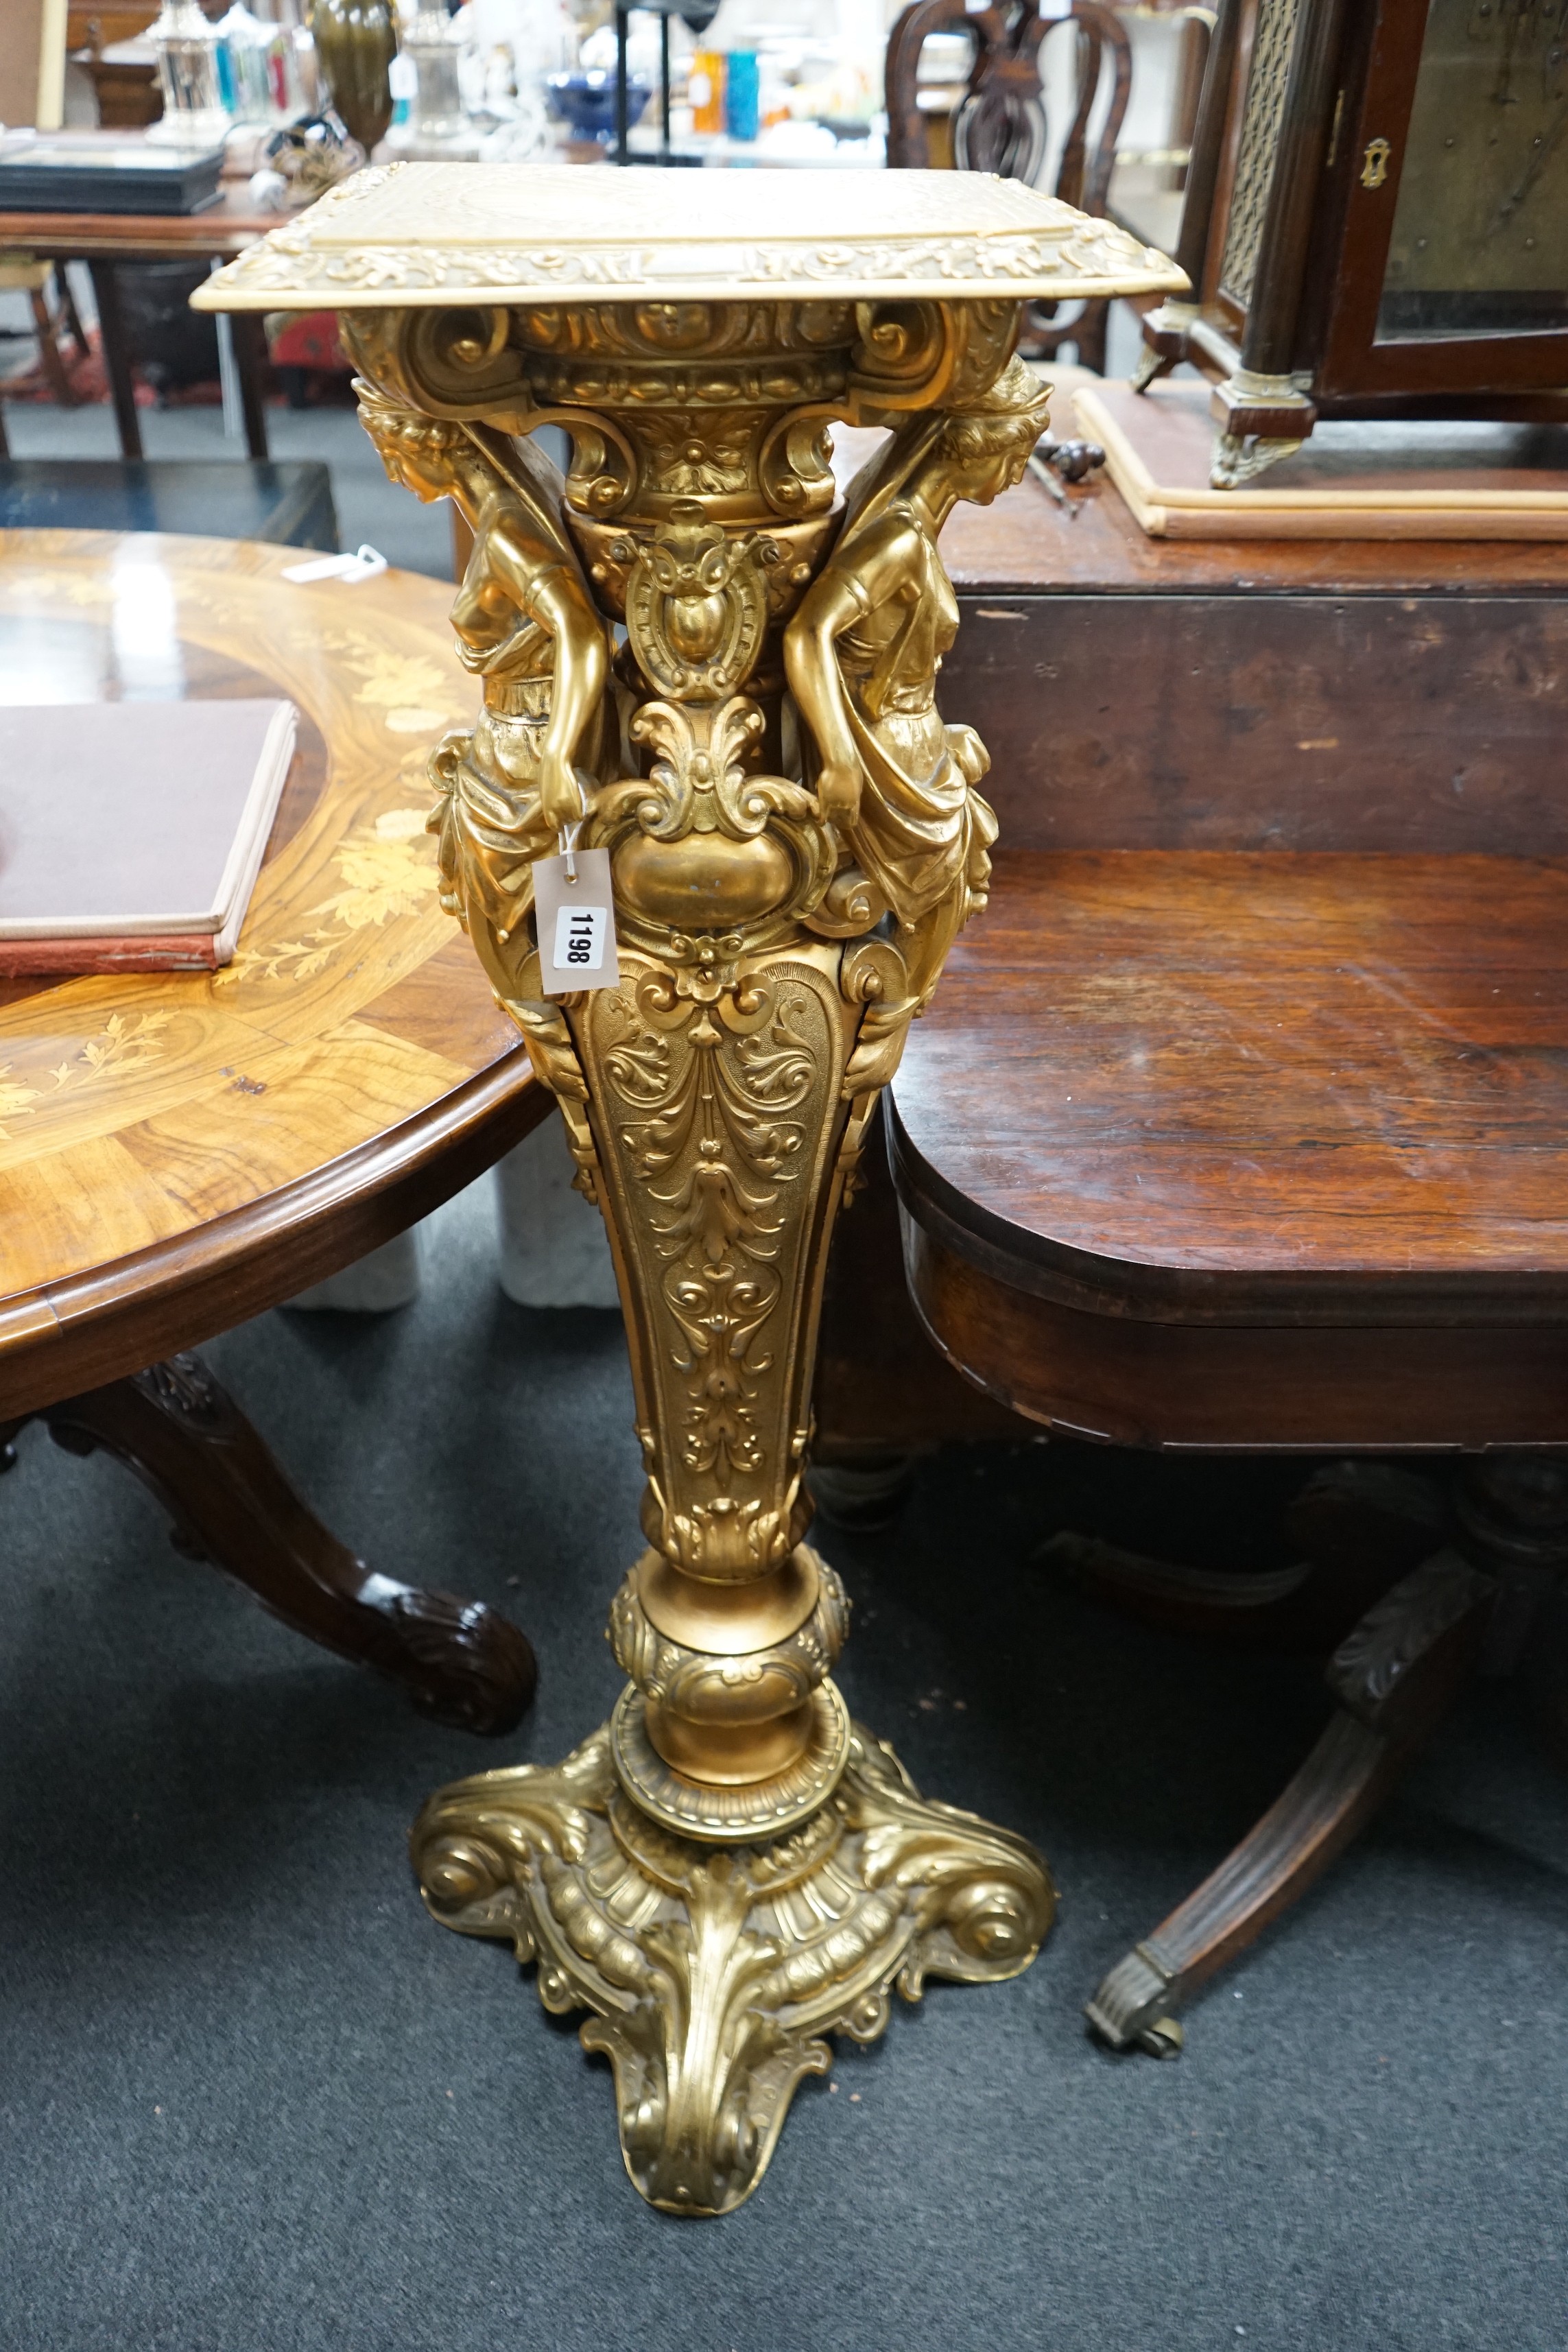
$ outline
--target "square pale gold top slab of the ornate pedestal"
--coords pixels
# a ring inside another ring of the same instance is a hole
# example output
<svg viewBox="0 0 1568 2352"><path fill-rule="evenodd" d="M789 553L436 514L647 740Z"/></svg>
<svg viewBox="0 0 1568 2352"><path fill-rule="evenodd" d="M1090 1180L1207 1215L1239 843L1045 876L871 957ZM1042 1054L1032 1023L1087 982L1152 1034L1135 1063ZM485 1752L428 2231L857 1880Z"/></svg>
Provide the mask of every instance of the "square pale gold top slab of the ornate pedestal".
<svg viewBox="0 0 1568 2352"><path fill-rule="evenodd" d="M1164 254L983 172L395 162L360 172L193 296L197 310L550 299L1027 301L1180 292Z"/></svg>

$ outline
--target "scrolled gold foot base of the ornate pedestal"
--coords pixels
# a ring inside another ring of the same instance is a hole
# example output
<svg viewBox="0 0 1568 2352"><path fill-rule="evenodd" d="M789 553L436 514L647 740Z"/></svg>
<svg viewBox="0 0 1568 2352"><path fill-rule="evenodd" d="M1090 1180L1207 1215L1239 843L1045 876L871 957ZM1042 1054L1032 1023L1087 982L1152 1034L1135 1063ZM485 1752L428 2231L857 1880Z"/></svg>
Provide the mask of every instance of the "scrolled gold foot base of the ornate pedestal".
<svg viewBox="0 0 1568 2352"><path fill-rule="evenodd" d="M616 2074L621 2152L665 2213L731 2213L762 2180L825 2034L875 2042L893 1985L999 1983L1056 1910L1025 1839L917 1795L851 1724L832 1797L757 1844L675 1837L621 1788L609 1724L555 1769L477 1773L411 1837L428 1910L538 1962Z"/></svg>

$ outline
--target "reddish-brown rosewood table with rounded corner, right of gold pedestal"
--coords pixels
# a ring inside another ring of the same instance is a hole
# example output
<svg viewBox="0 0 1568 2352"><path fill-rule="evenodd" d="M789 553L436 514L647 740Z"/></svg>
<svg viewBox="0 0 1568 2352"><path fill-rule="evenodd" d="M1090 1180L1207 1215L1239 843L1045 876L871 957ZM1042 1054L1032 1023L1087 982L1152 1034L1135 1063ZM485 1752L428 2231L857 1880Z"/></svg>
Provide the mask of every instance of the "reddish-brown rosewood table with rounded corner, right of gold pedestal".
<svg viewBox="0 0 1568 2352"><path fill-rule="evenodd" d="M919 1315L1037 1425L1349 1456L1274 1585L1056 1548L1164 1623L1345 1637L1314 1755L1091 2004L1166 2051L1568 1564L1568 548L1152 541L1025 482L947 560L1001 847L891 1098Z"/></svg>

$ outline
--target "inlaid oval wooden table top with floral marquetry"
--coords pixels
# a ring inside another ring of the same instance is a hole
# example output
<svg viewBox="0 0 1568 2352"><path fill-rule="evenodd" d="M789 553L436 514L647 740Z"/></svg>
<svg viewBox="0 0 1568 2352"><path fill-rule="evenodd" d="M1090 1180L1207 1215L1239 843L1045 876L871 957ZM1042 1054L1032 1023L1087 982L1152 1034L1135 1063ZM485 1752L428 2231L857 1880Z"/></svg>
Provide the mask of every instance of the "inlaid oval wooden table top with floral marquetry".
<svg viewBox="0 0 1568 2352"><path fill-rule="evenodd" d="M139 1371L428 1214L548 1110L435 896L425 755L473 708L451 588L299 550L0 532L12 703L287 694L233 964L0 981L0 1416ZM92 854L92 842L82 844Z"/></svg>

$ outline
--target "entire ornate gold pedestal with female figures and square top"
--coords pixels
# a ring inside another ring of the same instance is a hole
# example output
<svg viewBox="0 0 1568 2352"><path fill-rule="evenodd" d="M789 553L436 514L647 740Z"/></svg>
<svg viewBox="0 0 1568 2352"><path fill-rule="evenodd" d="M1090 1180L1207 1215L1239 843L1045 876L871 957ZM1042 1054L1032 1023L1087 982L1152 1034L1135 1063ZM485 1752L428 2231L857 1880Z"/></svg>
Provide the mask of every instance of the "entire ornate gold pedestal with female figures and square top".
<svg viewBox="0 0 1568 2352"><path fill-rule="evenodd" d="M936 706L938 534L1044 430L1020 303L1178 285L980 174L393 165L197 296L339 303L388 473L475 536L442 901L604 1211L646 1550L609 1724L442 1790L414 1863L437 1919L590 2011L668 2211L750 2194L823 2037L879 2034L893 1983L1013 1976L1051 1924L1039 1856L924 1802L832 1682L811 1362L835 1214L997 830L985 746ZM844 499L835 421L889 428ZM569 828L609 858L618 978L550 997L534 866Z"/></svg>

